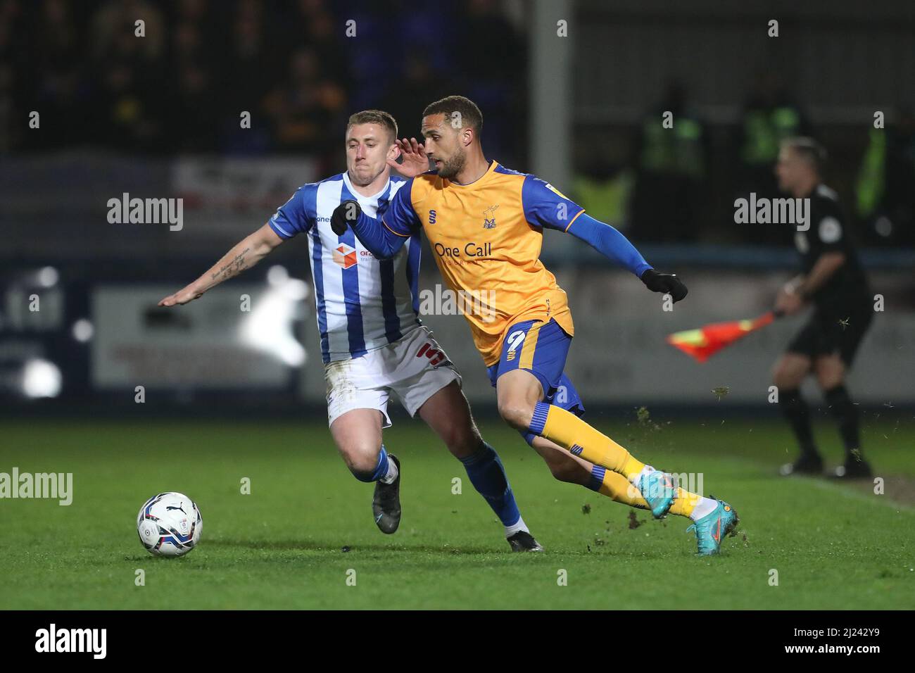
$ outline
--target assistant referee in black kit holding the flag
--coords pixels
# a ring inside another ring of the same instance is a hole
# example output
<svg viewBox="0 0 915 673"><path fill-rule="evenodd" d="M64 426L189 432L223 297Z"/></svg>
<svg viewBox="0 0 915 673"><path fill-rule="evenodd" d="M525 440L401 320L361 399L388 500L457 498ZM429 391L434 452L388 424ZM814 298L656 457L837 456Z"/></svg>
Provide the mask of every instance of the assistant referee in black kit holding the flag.
<svg viewBox="0 0 915 673"><path fill-rule="evenodd" d="M873 296L836 194L821 181L824 160L823 147L811 138L796 137L782 142L775 167L781 190L810 199L810 228L794 236L801 274L781 288L776 309L791 315L813 307L810 320L773 372L780 407L801 447L800 458L784 465L781 473L823 472L800 391L804 378L815 374L845 444L845 464L836 468L835 476L864 478L871 476L870 466L861 455L857 407L845 389L845 373L873 319Z"/></svg>

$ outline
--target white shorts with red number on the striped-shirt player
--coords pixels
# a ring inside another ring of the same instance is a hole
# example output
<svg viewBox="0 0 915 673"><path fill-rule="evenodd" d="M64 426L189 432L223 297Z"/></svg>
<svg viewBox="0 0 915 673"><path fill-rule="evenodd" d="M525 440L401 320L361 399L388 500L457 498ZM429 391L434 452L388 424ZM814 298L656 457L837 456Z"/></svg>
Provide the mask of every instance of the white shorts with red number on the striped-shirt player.
<svg viewBox="0 0 915 673"><path fill-rule="evenodd" d="M388 398L393 392L410 416L439 390L461 377L432 331L420 325L396 342L350 360L324 365L328 385L328 425L353 409L378 409L391 426Z"/></svg>

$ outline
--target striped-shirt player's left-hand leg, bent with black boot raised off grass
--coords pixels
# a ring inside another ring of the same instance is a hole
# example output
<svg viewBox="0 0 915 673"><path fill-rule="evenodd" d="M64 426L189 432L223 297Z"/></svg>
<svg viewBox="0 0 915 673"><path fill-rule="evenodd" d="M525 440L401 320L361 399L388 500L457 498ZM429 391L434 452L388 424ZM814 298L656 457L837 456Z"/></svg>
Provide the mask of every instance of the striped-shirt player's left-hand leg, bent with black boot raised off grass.
<svg viewBox="0 0 915 673"><path fill-rule="evenodd" d="M375 524L382 533L400 526L400 461L382 445L382 412L352 409L330 424L330 434L353 476L374 482L371 502Z"/></svg>

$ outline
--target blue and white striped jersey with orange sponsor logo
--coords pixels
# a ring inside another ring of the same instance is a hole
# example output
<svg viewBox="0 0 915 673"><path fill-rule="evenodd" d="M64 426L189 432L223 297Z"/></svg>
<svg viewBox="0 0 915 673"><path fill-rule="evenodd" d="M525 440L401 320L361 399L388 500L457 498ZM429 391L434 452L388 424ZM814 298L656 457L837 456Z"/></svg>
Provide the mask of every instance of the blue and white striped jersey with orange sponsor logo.
<svg viewBox="0 0 915 673"><path fill-rule="evenodd" d="M342 236L330 229L331 213L349 199L380 219L404 182L391 178L377 194L361 196L343 172L302 185L270 218L271 228L281 238L308 235L325 363L360 357L397 341L420 324L418 235L392 259L379 260L351 229Z"/></svg>

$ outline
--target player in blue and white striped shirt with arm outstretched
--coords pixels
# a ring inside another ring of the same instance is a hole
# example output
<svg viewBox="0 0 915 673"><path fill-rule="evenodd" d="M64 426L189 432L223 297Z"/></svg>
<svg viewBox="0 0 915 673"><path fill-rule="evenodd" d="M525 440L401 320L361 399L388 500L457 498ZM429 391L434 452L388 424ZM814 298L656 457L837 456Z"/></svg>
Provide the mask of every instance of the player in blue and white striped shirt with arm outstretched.
<svg viewBox="0 0 915 673"><path fill-rule="evenodd" d="M330 228L330 215L342 201L358 201L372 216L384 214L405 183L391 176L399 155L396 138L397 124L390 114L353 114L346 130L345 172L300 187L268 223L159 306L198 299L285 240L305 234L328 384L330 434L350 472L362 482L375 483L372 513L377 526L393 533L401 518L400 461L382 443L382 429L391 425L387 406L393 392L410 415L423 418L464 464L470 482L505 526L511 548L540 551L499 456L473 422L457 368L418 318L418 235L399 255L378 260L351 231L338 236ZM416 160L415 155L410 160Z"/></svg>

